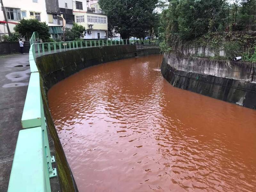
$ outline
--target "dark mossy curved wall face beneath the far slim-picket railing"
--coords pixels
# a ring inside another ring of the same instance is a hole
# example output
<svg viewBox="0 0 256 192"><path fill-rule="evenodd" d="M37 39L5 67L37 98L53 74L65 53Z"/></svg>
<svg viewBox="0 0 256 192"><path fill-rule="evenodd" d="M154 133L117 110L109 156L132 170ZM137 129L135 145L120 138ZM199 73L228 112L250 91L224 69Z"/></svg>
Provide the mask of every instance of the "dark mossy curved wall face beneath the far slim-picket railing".
<svg viewBox="0 0 256 192"><path fill-rule="evenodd" d="M36 65L44 79L44 87L48 90L52 85L84 68L159 52L158 48L137 50L135 45L91 47L44 55L36 58Z"/></svg>

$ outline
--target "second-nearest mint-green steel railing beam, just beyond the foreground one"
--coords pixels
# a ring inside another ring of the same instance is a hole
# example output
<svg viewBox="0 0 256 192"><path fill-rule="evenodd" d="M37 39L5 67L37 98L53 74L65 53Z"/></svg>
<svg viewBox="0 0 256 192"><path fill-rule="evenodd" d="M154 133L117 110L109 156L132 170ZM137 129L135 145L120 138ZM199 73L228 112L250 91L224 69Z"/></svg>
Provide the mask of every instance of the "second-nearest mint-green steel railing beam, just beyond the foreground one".
<svg viewBox="0 0 256 192"><path fill-rule="evenodd" d="M39 73L31 73L21 117L23 128L41 126L41 94Z"/></svg>

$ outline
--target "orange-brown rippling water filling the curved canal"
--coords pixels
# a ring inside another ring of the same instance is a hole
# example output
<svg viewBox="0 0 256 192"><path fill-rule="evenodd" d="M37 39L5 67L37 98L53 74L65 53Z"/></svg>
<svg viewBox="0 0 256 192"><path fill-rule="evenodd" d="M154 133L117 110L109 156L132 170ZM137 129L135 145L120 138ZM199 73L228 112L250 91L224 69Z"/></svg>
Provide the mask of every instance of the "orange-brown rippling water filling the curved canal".
<svg viewBox="0 0 256 192"><path fill-rule="evenodd" d="M256 111L172 87L159 55L87 68L48 92L80 191L254 191Z"/></svg>

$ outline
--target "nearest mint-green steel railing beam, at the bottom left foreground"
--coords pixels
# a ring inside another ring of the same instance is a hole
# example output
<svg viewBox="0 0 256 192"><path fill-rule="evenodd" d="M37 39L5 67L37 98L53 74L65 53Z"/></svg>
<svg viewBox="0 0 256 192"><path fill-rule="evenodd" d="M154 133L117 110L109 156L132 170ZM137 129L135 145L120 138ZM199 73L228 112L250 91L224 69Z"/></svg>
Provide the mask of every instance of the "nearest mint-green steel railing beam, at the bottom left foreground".
<svg viewBox="0 0 256 192"><path fill-rule="evenodd" d="M50 180L45 180L44 174L42 135L41 127L25 129L19 132L8 192L49 191L47 190L47 185L50 185Z"/></svg>

